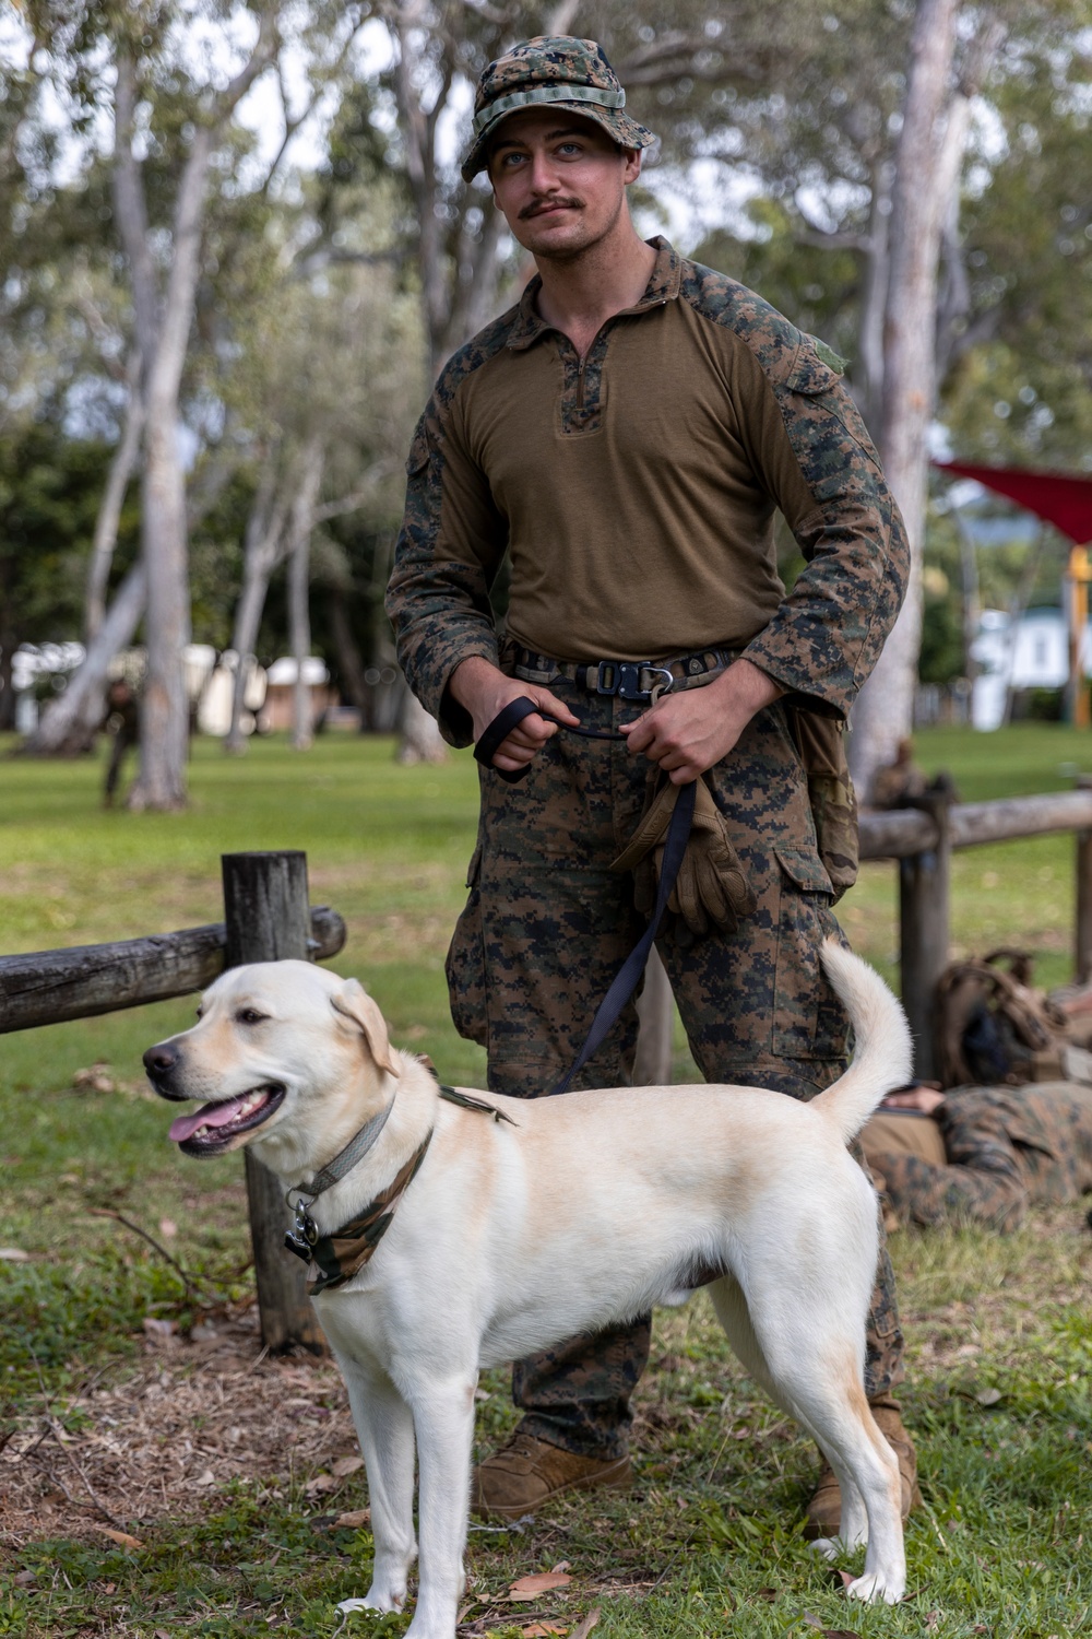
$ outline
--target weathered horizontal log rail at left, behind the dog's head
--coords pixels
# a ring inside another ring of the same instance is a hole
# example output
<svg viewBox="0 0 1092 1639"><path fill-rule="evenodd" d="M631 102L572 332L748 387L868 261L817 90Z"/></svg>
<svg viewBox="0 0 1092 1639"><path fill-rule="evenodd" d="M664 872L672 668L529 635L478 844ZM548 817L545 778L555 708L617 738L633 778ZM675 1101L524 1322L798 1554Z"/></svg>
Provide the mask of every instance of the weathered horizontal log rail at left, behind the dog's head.
<svg viewBox="0 0 1092 1639"><path fill-rule="evenodd" d="M326 962L344 942L345 924L337 911L313 905L308 956ZM116 944L3 956L0 1034L187 997L223 974L226 952L228 924L210 923Z"/></svg>

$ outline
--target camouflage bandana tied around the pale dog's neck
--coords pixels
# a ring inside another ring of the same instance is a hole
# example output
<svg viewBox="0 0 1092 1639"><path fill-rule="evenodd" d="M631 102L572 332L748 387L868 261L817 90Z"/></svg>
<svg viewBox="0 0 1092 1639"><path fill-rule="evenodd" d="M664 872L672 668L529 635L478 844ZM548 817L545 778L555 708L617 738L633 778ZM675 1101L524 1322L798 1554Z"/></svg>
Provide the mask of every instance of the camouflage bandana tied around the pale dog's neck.
<svg viewBox="0 0 1092 1639"><path fill-rule="evenodd" d="M440 1083L440 1098L447 1100L449 1105L458 1105L462 1110L475 1110L480 1115L493 1116L494 1121L509 1121L516 1126L511 1116L506 1116L496 1105L486 1103L485 1098L472 1098L470 1093L460 1093L444 1083ZM368 1201L362 1213L344 1223L341 1229L334 1229L332 1234L319 1234L309 1208L314 1206L314 1201L324 1190L329 1190L332 1183L344 1178L367 1155L383 1131L393 1108L395 1100L391 1098L386 1108L378 1116L365 1121L341 1154L334 1155L329 1165L314 1175L308 1190L293 1188L285 1196L296 1214L291 1229L285 1236L285 1246L296 1257L301 1257L305 1264L311 1265L308 1270L308 1293L311 1296L327 1292L331 1287L344 1285L372 1260L377 1246L391 1226L398 1203L416 1178L432 1142L434 1128L429 1128L409 1160L398 1169L391 1182L380 1190L375 1200ZM293 1200L293 1195L296 1200Z"/></svg>

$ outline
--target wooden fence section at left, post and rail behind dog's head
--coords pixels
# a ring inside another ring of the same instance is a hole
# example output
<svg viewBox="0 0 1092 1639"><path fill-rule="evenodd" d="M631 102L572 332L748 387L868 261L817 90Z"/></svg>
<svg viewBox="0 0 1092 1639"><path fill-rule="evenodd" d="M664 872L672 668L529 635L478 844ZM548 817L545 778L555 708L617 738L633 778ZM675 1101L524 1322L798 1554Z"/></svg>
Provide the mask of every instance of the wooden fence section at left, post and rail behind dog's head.
<svg viewBox="0 0 1092 1639"><path fill-rule="evenodd" d="M0 1034L185 997L242 962L326 960L345 942L336 911L308 905L306 854L224 854L224 921L208 928L0 957ZM277 1178L247 1149L246 1180L262 1341L324 1347L305 1295L306 1269L285 1252Z"/></svg>

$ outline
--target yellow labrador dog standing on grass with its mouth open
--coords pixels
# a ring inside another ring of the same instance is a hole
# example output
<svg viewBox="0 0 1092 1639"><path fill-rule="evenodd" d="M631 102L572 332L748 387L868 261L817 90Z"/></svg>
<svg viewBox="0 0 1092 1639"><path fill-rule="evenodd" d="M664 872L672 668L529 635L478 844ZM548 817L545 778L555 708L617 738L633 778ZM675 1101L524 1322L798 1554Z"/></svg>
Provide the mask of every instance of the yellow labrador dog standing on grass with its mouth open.
<svg viewBox="0 0 1092 1639"><path fill-rule="evenodd" d="M368 1473L375 1572L349 1608L406 1600L416 1437L408 1639L453 1639L478 1372L684 1301L714 1272L732 1347L838 1475L842 1541L868 1541L850 1593L902 1598L899 1470L863 1390L876 1196L846 1141L909 1080L910 1039L864 962L832 942L822 960L856 1052L807 1105L750 1087L440 1088L354 978L308 962L231 969L193 1029L146 1052L164 1098L208 1100L170 1129L187 1154L250 1144L300 1201Z"/></svg>

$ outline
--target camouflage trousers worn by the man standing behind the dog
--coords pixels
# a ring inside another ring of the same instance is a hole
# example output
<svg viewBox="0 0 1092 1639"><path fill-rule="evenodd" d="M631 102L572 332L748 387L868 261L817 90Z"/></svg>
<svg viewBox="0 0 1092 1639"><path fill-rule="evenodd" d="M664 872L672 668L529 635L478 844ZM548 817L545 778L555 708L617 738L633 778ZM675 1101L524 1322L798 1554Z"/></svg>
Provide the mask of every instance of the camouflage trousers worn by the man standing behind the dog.
<svg viewBox="0 0 1092 1639"><path fill-rule="evenodd" d="M598 731L616 729L639 711L562 677L548 687ZM576 1057L599 1000L643 933L634 879L609 864L640 818L648 772L648 762L629 754L620 739L565 731L517 785L481 770L470 898L447 978L455 1028L486 1047L493 1092L517 1098L548 1092ZM819 967L819 946L840 931L781 705L750 723L707 780L758 906L732 936L689 941L668 931L658 939L691 1051L707 1082L814 1098L845 1064L845 1015ZM635 1042L630 1003L573 1085L629 1085ZM512 1388L524 1410L521 1426L584 1455L620 1455L629 1396L648 1360L650 1326L650 1316L642 1316L517 1362ZM900 1375L902 1334L882 1242L866 1392L887 1393Z"/></svg>

